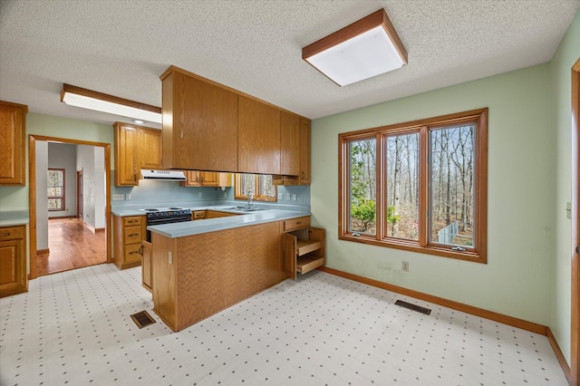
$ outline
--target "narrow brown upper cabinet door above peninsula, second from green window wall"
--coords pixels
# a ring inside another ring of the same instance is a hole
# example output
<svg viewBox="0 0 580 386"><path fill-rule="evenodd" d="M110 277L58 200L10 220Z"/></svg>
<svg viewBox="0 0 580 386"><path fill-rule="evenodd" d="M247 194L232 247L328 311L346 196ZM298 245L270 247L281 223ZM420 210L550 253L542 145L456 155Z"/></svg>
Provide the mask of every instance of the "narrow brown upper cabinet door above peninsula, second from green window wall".
<svg viewBox="0 0 580 386"><path fill-rule="evenodd" d="M280 112L280 174L300 174L300 117Z"/></svg>

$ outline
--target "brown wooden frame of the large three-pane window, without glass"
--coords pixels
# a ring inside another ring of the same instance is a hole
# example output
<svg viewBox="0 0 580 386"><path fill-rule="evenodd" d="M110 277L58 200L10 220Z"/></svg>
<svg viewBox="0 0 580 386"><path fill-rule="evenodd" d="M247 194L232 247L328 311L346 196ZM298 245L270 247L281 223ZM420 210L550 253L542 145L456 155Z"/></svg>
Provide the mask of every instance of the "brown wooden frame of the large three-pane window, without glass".
<svg viewBox="0 0 580 386"><path fill-rule="evenodd" d="M474 233L473 246L464 251L453 250L452 246L429 242L430 224L427 210L430 207L429 155L430 130L447 126L475 123L474 147ZM393 134L419 133L419 240L386 236L386 183L384 182L384 159L386 137ZM375 235L349 231L350 227L350 152L353 140L376 139L376 232ZM391 247L421 254L443 256L482 264L488 262L488 108L463 111L418 121L396 123L372 129L340 133L339 147L339 215L338 238L345 241Z"/></svg>

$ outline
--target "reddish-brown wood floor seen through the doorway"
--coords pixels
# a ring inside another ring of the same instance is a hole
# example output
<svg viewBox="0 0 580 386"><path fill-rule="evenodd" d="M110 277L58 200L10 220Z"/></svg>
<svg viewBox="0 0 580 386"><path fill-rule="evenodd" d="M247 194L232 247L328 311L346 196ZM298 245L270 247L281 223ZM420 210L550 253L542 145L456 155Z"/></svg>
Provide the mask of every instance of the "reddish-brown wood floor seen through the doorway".
<svg viewBox="0 0 580 386"><path fill-rule="evenodd" d="M36 259L39 276L102 264L107 256L105 232L92 232L79 218L49 219L48 248Z"/></svg>

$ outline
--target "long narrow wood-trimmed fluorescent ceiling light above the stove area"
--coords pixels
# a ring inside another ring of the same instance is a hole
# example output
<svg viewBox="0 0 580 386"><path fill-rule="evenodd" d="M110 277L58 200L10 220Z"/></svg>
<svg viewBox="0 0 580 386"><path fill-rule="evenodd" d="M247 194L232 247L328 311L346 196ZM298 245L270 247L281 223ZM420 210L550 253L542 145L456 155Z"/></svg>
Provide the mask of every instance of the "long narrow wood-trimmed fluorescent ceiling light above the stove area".
<svg viewBox="0 0 580 386"><path fill-rule="evenodd" d="M63 84L61 101L94 111L108 112L141 121L161 123L161 108L138 101L130 101L102 92L93 92L82 87Z"/></svg>

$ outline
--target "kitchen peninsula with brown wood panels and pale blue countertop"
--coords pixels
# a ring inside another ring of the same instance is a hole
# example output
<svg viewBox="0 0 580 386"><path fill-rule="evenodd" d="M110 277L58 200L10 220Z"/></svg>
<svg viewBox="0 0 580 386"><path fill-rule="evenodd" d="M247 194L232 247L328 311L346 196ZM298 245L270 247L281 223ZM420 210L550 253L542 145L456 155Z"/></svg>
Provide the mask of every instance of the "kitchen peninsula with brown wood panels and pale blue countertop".
<svg viewBox="0 0 580 386"><path fill-rule="evenodd" d="M220 210L239 216L148 227L154 311L173 331L293 277L283 235L307 229L309 213Z"/></svg>

